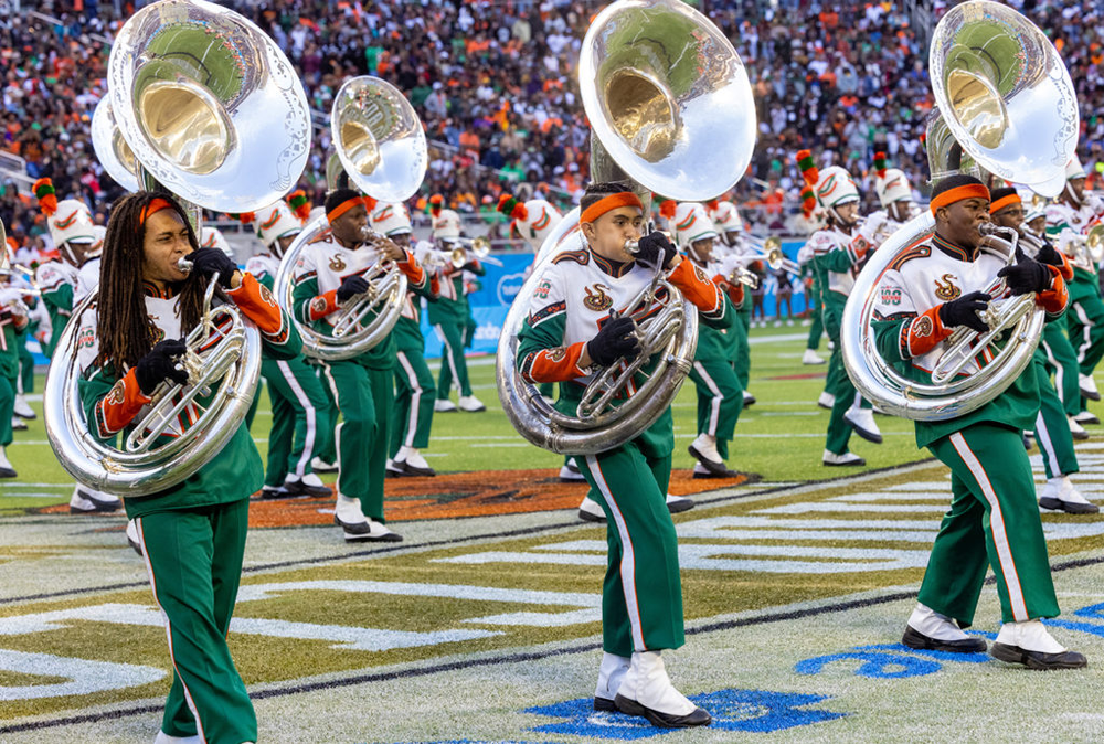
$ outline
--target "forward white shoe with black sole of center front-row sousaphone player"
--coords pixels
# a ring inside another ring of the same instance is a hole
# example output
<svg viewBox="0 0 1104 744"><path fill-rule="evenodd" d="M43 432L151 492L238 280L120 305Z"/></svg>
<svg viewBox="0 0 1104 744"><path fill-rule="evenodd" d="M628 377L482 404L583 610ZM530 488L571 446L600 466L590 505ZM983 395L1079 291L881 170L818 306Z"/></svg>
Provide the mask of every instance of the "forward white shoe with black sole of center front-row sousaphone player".
<svg viewBox="0 0 1104 744"><path fill-rule="evenodd" d="M614 697L617 710L643 715L655 726L684 729L708 726L712 716L675 689L659 651L635 651L628 671Z"/></svg>

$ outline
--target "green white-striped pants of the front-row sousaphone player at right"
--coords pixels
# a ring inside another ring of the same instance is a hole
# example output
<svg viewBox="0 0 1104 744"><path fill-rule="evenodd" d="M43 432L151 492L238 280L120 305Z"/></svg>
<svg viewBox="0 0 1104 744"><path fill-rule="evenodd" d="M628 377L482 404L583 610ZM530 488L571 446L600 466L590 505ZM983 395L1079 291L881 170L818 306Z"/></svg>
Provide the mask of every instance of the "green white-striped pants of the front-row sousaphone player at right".
<svg viewBox="0 0 1104 744"><path fill-rule="evenodd" d="M981 422L928 449L951 468L952 500L932 545L920 602L972 625L991 565L1005 623L1055 617L1058 597L1020 432Z"/></svg>

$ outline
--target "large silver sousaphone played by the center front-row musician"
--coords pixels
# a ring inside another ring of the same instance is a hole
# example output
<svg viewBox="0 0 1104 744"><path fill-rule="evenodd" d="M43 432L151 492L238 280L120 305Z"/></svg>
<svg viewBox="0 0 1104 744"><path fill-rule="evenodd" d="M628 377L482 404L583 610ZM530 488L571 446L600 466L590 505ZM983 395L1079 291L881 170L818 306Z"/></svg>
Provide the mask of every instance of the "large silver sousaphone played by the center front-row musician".
<svg viewBox="0 0 1104 744"><path fill-rule="evenodd" d="M661 32L645 32L651 29ZM593 128L592 177L629 180L645 214L651 192L712 199L746 170L756 131L746 71L724 34L689 6L619 0L605 8L583 41L578 81ZM521 380L518 331L543 267L563 249L585 247L578 214L577 208L569 212L541 246L507 315L497 360L499 400L510 423L532 444L565 455L605 451L651 426L678 393L698 338L697 308L657 268L649 286L617 310L637 319L640 354L594 374L572 415ZM627 395L650 360L655 369ZM613 405L617 398L625 400Z"/></svg>

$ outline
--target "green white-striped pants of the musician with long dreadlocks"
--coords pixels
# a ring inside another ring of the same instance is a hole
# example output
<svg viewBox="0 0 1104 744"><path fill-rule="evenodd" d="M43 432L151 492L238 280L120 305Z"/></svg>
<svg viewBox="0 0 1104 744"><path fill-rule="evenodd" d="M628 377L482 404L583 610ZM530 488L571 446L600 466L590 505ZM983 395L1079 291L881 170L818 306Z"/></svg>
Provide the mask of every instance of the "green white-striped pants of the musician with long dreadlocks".
<svg viewBox="0 0 1104 744"><path fill-rule="evenodd" d="M170 736L257 741L257 716L226 645L248 513L242 499L135 520L169 636L173 676L161 730Z"/></svg>

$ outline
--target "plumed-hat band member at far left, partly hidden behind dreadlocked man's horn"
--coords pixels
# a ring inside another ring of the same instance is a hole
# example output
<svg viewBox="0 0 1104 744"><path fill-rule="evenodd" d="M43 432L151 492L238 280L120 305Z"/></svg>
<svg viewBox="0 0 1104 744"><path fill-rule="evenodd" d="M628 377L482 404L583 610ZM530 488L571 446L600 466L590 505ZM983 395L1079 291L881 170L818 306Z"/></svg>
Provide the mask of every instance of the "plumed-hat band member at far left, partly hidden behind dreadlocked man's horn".
<svg viewBox="0 0 1104 744"><path fill-rule="evenodd" d="M53 357L57 337L78 301L81 268L97 251L97 233L88 206L76 199L57 201L50 179L39 179L33 190L42 213L46 215L46 226L61 258L40 264L35 272L35 283L50 313L51 336L43 344L43 352ZM73 487L70 498L70 513L74 514L114 512L121 506L118 497L82 483Z"/></svg>

